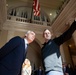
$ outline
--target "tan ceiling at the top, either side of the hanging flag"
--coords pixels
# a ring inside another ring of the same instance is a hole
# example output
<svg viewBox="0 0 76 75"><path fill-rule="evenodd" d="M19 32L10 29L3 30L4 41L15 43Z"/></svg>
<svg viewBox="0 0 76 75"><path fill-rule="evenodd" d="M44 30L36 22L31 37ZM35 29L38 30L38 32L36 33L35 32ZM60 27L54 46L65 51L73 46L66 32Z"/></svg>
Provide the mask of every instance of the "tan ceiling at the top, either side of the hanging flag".
<svg viewBox="0 0 76 75"><path fill-rule="evenodd" d="M57 10L63 5L66 0L39 0L40 9L43 10L52 21L56 17ZM33 0L7 0L8 7L14 7L16 3L23 3L23 5L31 6L33 4ZM12 4L11 4L12 3ZM17 5L17 4L16 4ZM50 15L50 13L52 15Z"/></svg>

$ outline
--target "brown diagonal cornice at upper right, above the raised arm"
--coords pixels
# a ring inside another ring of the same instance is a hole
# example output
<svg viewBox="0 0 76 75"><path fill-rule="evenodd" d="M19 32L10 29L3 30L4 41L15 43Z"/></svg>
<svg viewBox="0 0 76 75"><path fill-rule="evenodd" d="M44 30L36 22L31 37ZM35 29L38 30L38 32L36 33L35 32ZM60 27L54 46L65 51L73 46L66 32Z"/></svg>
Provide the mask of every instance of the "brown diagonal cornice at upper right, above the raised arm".
<svg viewBox="0 0 76 75"><path fill-rule="evenodd" d="M72 21L74 20L75 16L73 16L76 13L76 0L70 0L69 3L66 5L66 7L63 9L63 11L60 13L60 15L56 18L54 23L52 24L52 29L56 33L60 31L61 33L65 31L68 26L67 22L70 21L72 18Z"/></svg>

